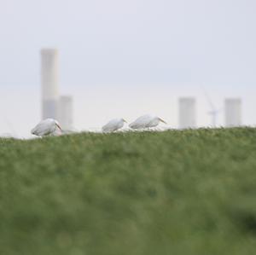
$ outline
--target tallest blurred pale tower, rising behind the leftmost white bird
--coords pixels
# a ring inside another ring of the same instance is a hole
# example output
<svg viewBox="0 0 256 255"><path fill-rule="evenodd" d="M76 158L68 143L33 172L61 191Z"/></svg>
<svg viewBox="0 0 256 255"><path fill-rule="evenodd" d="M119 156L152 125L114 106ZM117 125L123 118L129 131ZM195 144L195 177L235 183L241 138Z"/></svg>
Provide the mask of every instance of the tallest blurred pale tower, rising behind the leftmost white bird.
<svg viewBox="0 0 256 255"><path fill-rule="evenodd" d="M58 119L58 50L41 50L42 117Z"/></svg>

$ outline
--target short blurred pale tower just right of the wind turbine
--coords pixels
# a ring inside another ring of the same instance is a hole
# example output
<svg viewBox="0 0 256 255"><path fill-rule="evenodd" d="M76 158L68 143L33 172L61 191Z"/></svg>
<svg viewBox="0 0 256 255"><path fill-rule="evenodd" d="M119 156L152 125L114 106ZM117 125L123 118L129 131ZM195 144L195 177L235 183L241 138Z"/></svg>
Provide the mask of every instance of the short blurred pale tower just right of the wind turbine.
<svg viewBox="0 0 256 255"><path fill-rule="evenodd" d="M225 126L241 125L241 98L225 99Z"/></svg>

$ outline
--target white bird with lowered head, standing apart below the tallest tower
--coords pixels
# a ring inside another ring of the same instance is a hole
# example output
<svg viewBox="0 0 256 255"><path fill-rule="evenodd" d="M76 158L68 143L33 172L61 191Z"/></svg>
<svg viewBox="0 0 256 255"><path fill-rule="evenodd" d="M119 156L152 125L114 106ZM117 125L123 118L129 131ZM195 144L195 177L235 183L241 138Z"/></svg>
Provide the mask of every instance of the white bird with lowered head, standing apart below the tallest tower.
<svg viewBox="0 0 256 255"><path fill-rule="evenodd" d="M61 131L61 126L57 120L44 119L31 130L31 133L35 136L49 136L59 134Z"/></svg>

